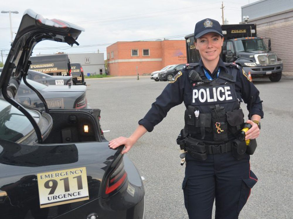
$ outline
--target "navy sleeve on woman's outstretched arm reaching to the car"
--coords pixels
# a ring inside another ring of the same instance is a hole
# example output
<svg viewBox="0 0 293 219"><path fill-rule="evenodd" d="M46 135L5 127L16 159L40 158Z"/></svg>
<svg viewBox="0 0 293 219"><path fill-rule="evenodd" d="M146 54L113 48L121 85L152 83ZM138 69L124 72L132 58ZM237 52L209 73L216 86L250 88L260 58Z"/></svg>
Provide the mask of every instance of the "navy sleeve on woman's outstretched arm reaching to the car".
<svg viewBox="0 0 293 219"><path fill-rule="evenodd" d="M168 111L183 102L185 84L185 70L182 75L177 77L176 81L171 81L163 92L152 103L151 109L147 112L143 119L138 121L139 125L143 125L147 131L151 132L154 126L159 124L166 117Z"/></svg>

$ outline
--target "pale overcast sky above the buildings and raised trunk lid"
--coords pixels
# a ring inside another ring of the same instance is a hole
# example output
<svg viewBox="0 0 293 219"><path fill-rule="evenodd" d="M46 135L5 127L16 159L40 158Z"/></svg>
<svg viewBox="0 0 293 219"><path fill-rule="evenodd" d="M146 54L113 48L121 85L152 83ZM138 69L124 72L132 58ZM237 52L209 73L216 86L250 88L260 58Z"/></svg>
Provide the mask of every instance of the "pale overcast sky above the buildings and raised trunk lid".
<svg viewBox="0 0 293 219"><path fill-rule="evenodd" d="M241 22L241 6L255 1L223 1L224 18L229 24L238 24ZM195 23L204 18L212 18L222 24L221 5L222 1L216 0L11 0L1 1L0 11L19 12L11 14L13 32L17 32L27 8L44 18L57 18L85 29L77 39L79 46L69 47L64 43L42 41L35 47L33 55L57 52L97 53L99 50L106 58L106 47L117 41L184 39L185 35L193 33ZM9 14L0 13L0 16L0 50L4 50L2 53L5 62L11 41Z"/></svg>

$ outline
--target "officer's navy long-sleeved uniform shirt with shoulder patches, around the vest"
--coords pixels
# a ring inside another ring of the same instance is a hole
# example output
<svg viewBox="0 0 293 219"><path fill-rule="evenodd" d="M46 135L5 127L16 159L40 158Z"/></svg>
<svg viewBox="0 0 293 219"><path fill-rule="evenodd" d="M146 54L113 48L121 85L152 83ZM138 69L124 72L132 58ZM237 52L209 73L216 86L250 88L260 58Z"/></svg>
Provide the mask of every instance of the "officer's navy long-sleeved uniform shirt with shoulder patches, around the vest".
<svg viewBox="0 0 293 219"><path fill-rule="evenodd" d="M199 65L195 67L195 71L200 73L202 79L206 79L203 71L203 63L200 60ZM220 67L221 72L225 71L229 73L232 68L238 69L238 74L235 82L235 90L237 98L240 101L244 101L247 104L247 109L250 110L251 116L254 114L259 115L263 118L263 107L262 101L259 98L259 91L248 79L248 75L236 64L230 63L226 66L220 59L218 66L211 74L212 78L217 77L217 71ZM183 67L183 70L179 72L170 83L166 86L163 92L156 98L156 101L151 105L151 109L144 116L143 119L139 120L138 124L143 125L147 131L151 132L154 126L159 124L166 117L168 111L182 102L185 107L188 107L192 101L192 84L188 78L190 70L193 68ZM208 71L209 72L209 71ZM209 72L210 73L210 72ZM251 105L251 106L250 106ZM184 117L182 117L184 119ZM183 128L183 127L182 127Z"/></svg>

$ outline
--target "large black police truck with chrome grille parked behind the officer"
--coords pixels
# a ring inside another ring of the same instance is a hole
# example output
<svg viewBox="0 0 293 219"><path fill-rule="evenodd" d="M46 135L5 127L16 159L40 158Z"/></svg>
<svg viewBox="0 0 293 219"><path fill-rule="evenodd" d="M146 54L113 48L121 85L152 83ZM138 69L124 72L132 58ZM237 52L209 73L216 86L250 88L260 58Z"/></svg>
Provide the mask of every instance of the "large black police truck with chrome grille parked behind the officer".
<svg viewBox="0 0 293 219"><path fill-rule="evenodd" d="M269 77L271 81L280 81L283 63L271 52L269 38L257 37L256 24L221 25L224 35L221 58L224 62L235 62L253 78ZM194 46L194 34L185 36L187 62L194 63L200 59ZM268 40L268 47L265 44Z"/></svg>

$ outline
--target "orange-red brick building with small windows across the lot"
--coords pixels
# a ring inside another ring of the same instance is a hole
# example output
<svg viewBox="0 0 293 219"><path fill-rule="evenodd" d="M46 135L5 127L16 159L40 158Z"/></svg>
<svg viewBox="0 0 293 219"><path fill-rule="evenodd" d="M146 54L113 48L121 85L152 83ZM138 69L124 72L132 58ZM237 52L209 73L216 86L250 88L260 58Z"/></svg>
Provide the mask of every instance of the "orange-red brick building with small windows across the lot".
<svg viewBox="0 0 293 219"><path fill-rule="evenodd" d="M116 42L107 47L110 75L150 74L186 63L185 40Z"/></svg>

